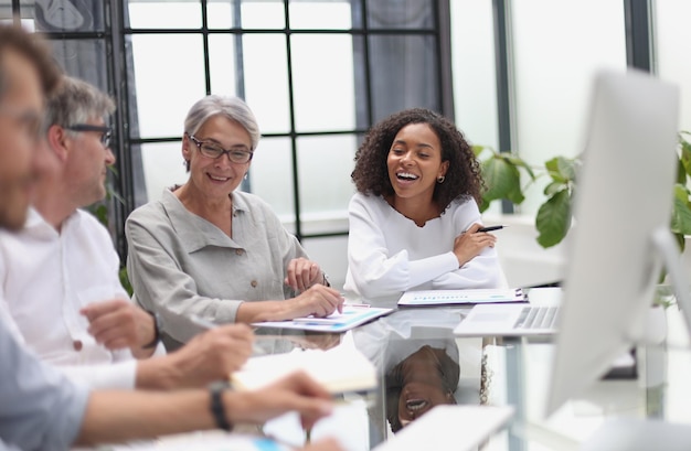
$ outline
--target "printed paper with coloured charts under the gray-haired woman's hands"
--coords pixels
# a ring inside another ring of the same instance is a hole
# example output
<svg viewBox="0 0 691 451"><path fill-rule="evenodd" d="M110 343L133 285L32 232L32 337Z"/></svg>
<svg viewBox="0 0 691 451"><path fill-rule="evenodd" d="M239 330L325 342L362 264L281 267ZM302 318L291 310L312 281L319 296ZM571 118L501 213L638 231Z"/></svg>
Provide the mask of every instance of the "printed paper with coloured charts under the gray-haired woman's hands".
<svg viewBox="0 0 691 451"><path fill-rule="evenodd" d="M299 329L315 332L346 332L375 318L389 314L392 311L393 309L344 304L341 313L336 311L325 318L304 316L290 321L265 321L253 323L253 325L262 327Z"/></svg>

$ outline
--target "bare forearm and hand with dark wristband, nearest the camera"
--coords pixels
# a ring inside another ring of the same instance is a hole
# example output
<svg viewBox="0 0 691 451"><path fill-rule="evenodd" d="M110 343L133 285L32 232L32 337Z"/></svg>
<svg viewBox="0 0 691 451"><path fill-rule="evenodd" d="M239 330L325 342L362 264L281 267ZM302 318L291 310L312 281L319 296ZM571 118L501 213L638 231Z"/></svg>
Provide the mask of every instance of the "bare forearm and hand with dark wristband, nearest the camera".
<svg viewBox="0 0 691 451"><path fill-rule="evenodd" d="M206 390L94 391L75 444L114 443L215 429L210 402ZM231 425L263 423L297 411L306 429L332 410L328 391L304 373L295 373L256 391L225 391L223 405Z"/></svg>

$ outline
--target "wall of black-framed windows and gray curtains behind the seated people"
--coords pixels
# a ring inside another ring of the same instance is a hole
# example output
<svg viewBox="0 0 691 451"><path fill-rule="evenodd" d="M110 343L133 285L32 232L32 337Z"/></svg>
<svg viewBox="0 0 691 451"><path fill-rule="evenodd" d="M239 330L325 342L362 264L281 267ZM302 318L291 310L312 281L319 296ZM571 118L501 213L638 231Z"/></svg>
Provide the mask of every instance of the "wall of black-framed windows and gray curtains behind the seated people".
<svg viewBox="0 0 691 451"><path fill-rule="evenodd" d="M583 147L593 74L626 66L681 86L691 129L687 0L0 0L72 74L113 94L113 234L183 183L182 121L206 94L244 98L263 138L243 185L327 269L346 272L350 172L363 133L400 109L453 117L477 144L541 165ZM535 184L520 213L542 202ZM503 205L510 211L510 205ZM332 269L331 269L332 268Z"/></svg>

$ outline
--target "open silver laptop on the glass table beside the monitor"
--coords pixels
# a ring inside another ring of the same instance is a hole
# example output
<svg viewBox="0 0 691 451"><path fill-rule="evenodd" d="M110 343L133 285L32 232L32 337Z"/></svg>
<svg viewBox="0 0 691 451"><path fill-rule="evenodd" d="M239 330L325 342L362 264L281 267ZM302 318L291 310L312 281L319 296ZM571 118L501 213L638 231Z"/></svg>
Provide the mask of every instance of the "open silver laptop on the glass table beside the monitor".
<svg viewBox="0 0 691 451"><path fill-rule="evenodd" d="M531 336L556 333L559 287L533 288L530 303L476 304L454 329L456 336Z"/></svg>

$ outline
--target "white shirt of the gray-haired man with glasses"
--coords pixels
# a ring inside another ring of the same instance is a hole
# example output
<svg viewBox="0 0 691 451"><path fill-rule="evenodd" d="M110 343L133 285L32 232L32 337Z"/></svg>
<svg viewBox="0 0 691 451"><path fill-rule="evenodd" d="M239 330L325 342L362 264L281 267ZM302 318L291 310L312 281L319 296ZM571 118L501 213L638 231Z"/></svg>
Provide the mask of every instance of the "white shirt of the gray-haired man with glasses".
<svg viewBox="0 0 691 451"><path fill-rule="evenodd" d="M129 350L97 344L79 314L91 302L128 299L118 268L110 236L91 214L76 211L57 233L32 208L22 230L0 232L0 320L73 380L134 388L137 361Z"/></svg>

